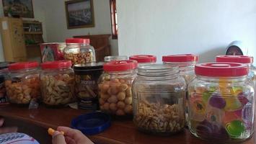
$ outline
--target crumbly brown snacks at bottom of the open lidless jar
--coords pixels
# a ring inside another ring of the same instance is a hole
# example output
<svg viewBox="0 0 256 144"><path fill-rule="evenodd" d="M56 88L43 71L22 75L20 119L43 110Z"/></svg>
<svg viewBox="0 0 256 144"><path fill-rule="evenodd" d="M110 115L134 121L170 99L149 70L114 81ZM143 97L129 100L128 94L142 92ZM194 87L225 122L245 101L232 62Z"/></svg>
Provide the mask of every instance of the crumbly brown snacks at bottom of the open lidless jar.
<svg viewBox="0 0 256 144"><path fill-rule="evenodd" d="M133 121L147 132L178 132L185 126L185 116L179 112L178 104L140 102Z"/></svg>

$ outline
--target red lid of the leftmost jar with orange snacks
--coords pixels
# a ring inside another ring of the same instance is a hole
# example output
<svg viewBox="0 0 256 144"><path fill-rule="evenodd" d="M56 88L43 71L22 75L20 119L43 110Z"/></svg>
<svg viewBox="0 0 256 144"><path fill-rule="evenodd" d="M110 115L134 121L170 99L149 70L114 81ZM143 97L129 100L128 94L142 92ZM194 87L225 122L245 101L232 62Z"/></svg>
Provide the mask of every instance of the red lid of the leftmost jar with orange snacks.
<svg viewBox="0 0 256 144"><path fill-rule="evenodd" d="M28 61L28 62L19 62L19 63L12 63L8 66L8 69L10 71L17 71L17 70L23 70L23 69L29 69L29 68L37 68L39 66L39 63L36 61Z"/></svg>

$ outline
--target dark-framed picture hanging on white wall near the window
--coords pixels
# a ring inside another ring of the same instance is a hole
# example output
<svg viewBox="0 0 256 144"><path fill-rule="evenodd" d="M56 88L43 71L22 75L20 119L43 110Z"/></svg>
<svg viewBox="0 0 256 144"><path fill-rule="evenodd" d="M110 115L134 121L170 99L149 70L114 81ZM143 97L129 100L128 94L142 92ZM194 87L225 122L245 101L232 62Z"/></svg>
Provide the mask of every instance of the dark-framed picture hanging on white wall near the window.
<svg viewBox="0 0 256 144"><path fill-rule="evenodd" d="M93 0L65 1L68 29L94 27Z"/></svg>

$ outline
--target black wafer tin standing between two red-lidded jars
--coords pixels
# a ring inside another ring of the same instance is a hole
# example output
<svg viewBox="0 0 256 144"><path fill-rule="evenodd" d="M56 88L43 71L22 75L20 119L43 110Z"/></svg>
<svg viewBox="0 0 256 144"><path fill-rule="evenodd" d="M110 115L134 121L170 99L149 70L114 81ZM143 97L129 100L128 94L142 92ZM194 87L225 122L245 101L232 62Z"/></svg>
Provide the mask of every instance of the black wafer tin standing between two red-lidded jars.
<svg viewBox="0 0 256 144"><path fill-rule="evenodd" d="M79 109L99 109L98 80L103 72L103 63L86 63L74 66L75 94Z"/></svg>

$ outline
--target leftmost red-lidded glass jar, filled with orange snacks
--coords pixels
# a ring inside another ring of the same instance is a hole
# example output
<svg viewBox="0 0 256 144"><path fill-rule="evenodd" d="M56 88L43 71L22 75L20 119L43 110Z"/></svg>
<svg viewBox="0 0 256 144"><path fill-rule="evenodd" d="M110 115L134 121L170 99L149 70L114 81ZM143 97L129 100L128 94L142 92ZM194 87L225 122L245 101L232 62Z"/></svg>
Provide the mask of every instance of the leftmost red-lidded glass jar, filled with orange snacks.
<svg viewBox="0 0 256 144"><path fill-rule="evenodd" d="M30 104L32 99L40 99L38 66L37 62L21 62L9 65L9 73L4 84L10 103Z"/></svg>

